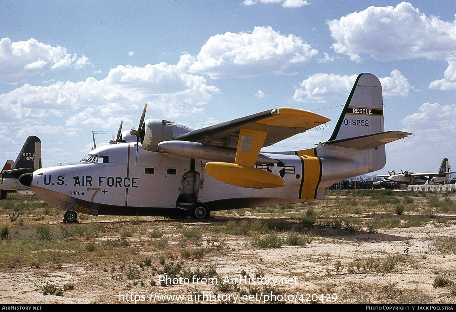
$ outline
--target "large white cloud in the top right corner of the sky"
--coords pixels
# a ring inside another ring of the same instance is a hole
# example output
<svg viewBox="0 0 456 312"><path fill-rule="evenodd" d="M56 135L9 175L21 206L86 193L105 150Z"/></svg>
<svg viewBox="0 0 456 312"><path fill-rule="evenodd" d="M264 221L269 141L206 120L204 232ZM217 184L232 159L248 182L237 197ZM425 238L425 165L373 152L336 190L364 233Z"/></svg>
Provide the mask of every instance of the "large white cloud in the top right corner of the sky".
<svg viewBox="0 0 456 312"><path fill-rule="evenodd" d="M360 62L364 56L380 61L425 57L444 60L456 51L456 21L426 16L408 2L370 6L328 21L334 51Z"/></svg>

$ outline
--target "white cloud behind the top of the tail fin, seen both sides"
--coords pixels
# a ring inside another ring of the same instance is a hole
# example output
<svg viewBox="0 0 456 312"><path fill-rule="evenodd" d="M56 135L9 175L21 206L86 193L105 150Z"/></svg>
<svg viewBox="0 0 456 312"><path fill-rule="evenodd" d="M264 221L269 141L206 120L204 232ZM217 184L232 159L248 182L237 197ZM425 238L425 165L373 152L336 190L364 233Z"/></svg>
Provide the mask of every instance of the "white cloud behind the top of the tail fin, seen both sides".
<svg viewBox="0 0 456 312"><path fill-rule="evenodd" d="M326 73L311 75L300 83L299 88L295 89L293 100L326 103L329 99L338 99L341 95L345 96L350 93L357 77L357 74L351 76ZM409 89L412 88L397 69L391 71L390 77L379 78L379 80L384 97L407 96Z"/></svg>

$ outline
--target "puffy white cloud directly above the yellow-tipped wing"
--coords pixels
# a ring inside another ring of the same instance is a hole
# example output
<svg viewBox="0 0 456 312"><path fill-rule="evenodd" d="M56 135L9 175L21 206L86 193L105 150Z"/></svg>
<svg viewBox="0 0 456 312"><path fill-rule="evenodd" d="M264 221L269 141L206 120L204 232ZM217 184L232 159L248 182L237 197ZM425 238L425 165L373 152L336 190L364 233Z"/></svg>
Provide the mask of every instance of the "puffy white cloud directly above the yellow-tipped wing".
<svg viewBox="0 0 456 312"><path fill-rule="evenodd" d="M285 36L270 26L258 26L251 33L226 32L210 37L189 64L189 70L211 78L289 75L317 53L298 36Z"/></svg>

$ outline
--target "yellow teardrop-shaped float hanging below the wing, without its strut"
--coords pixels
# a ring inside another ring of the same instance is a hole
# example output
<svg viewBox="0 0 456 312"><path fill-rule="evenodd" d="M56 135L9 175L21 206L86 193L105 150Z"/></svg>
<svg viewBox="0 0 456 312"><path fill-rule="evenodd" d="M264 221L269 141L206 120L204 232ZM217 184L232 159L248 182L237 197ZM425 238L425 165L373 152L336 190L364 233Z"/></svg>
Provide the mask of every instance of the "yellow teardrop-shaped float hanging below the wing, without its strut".
<svg viewBox="0 0 456 312"><path fill-rule="evenodd" d="M208 162L206 171L214 179L238 187L262 189L285 186L281 177L250 166L240 166L227 162Z"/></svg>

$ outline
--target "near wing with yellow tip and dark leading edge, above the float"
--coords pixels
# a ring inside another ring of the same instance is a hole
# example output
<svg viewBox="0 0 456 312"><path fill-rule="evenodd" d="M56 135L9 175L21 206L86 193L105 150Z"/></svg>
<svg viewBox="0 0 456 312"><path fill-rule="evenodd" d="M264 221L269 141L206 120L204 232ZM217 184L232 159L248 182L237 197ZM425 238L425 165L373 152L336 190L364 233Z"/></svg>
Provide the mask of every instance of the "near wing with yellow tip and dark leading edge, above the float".
<svg viewBox="0 0 456 312"><path fill-rule="evenodd" d="M238 146L241 130L265 132L261 147L273 145L293 135L305 132L329 119L302 109L280 107L261 113L212 125L177 135L174 140L192 141L224 147ZM258 155L257 155L258 156Z"/></svg>

